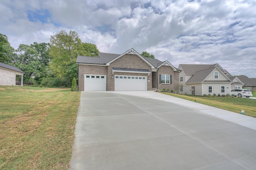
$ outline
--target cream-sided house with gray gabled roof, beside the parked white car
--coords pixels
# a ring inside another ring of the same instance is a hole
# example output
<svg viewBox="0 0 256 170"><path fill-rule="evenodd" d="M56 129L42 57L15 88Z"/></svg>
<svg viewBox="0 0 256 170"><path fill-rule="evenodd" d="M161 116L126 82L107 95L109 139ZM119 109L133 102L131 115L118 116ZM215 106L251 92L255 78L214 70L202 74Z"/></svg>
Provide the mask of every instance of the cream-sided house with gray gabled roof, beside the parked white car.
<svg viewBox="0 0 256 170"><path fill-rule="evenodd" d="M180 94L188 95L226 95L233 89L242 89L244 83L233 77L218 63L180 64Z"/></svg>

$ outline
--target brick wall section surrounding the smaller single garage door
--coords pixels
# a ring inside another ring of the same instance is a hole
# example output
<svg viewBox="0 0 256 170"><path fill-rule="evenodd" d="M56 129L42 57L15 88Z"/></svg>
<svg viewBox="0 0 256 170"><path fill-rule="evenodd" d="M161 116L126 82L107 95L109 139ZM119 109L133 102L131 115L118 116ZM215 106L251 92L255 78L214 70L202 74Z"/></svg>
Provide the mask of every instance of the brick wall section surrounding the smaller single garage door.
<svg viewBox="0 0 256 170"><path fill-rule="evenodd" d="M84 75L85 74L107 75L107 66L79 64L78 66L78 90L79 91L84 91Z"/></svg>

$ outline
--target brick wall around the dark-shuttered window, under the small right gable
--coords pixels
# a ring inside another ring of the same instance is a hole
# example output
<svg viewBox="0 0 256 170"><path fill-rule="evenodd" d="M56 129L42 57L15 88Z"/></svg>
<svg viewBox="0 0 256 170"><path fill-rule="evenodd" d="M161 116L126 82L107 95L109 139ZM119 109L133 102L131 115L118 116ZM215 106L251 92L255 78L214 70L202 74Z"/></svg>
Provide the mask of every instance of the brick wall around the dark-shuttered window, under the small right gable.
<svg viewBox="0 0 256 170"><path fill-rule="evenodd" d="M160 84L158 78L158 89L170 89L179 93L179 72L173 71L172 67L170 66L162 65L158 70L158 77L160 74L172 75L172 84Z"/></svg>

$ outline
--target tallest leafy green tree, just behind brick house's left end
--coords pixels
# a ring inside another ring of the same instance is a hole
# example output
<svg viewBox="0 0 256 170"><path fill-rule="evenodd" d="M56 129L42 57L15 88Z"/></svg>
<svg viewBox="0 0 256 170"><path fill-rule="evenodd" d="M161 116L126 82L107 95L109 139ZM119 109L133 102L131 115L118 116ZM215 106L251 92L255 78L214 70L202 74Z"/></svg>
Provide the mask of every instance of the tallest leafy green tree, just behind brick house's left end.
<svg viewBox="0 0 256 170"><path fill-rule="evenodd" d="M55 77L65 79L71 85L73 77L78 79L77 56L97 56L98 52L96 45L82 43L75 31L61 30L50 37L50 70Z"/></svg>

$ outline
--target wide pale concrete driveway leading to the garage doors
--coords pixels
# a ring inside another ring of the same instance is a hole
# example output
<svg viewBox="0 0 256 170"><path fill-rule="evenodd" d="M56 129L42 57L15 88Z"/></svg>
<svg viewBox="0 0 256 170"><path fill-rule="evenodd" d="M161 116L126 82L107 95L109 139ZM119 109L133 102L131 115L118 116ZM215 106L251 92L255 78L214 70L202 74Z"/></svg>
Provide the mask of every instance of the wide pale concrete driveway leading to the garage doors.
<svg viewBox="0 0 256 170"><path fill-rule="evenodd" d="M256 169L256 119L145 92L82 92L71 169Z"/></svg>

